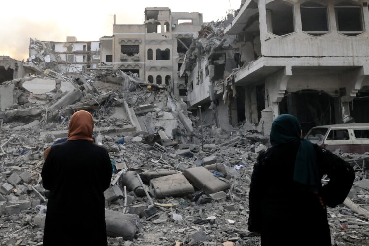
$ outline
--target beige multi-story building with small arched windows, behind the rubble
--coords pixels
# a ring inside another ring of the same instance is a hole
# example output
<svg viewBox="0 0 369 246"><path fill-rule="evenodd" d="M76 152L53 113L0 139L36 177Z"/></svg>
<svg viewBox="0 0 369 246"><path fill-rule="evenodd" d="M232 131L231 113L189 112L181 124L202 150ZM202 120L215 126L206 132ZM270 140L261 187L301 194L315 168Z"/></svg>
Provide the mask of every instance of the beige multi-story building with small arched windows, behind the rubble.
<svg viewBox="0 0 369 246"><path fill-rule="evenodd" d="M145 8L144 24L114 21L113 35L100 38L101 67L166 84L175 98L186 101L185 80L178 76L178 70L202 24L201 13L171 12L166 7Z"/></svg>

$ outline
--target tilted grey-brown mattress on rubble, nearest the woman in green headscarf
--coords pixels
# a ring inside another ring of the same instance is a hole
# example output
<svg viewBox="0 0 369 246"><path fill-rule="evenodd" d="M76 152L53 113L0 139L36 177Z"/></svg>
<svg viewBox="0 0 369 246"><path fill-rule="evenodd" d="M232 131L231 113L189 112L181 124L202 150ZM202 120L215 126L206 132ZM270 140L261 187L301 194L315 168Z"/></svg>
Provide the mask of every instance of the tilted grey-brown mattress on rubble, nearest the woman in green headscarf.
<svg viewBox="0 0 369 246"><path fill-rule="evenodd" d="M229 188L229 184L214 177L213 173L204 167L193 167L183 171L183 175L195 187L202 189L206 194L213 194Z"/></svg>

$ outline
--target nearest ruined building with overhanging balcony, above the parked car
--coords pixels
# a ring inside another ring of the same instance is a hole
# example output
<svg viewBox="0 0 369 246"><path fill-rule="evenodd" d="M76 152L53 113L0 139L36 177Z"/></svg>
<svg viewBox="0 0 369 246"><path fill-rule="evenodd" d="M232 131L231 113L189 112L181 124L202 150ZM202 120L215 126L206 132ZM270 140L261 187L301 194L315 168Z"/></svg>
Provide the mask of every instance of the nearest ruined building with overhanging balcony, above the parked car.
<svg viewBox="0 0 369 246"><path fill-rule="evenodd" d="M200 31L180 72L205 121L246 121L265 134L284 113L304 132L369 122L366 1L242 0L224 31L216 25Z"/></svg>

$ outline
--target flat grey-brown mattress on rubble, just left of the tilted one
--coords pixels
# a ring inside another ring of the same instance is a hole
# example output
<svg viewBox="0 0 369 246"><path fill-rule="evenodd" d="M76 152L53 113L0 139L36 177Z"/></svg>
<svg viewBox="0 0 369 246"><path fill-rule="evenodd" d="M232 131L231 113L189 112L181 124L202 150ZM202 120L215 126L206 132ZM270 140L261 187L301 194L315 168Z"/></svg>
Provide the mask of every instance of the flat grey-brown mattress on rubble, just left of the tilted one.
<svg viewBox="0 0 369 246"><path fill-rule="evenodd" d="M183 196L195 192L192 184L188 182L182 173L167 175L150 180L156 198L168 196Z"/></svg>

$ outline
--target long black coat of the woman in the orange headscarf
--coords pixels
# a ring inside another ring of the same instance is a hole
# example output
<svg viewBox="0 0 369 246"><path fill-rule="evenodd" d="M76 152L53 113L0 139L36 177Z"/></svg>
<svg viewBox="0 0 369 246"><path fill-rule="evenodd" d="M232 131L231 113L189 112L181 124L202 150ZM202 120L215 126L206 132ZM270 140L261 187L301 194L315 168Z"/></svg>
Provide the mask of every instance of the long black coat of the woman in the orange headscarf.
<svg viewBox="0 0 369 246"><path fill-rule="evenodd" d="M86 140L51 148L42 169L47 204L44 246L106 246L105 198L112 166L107 151Z"/></svg>

